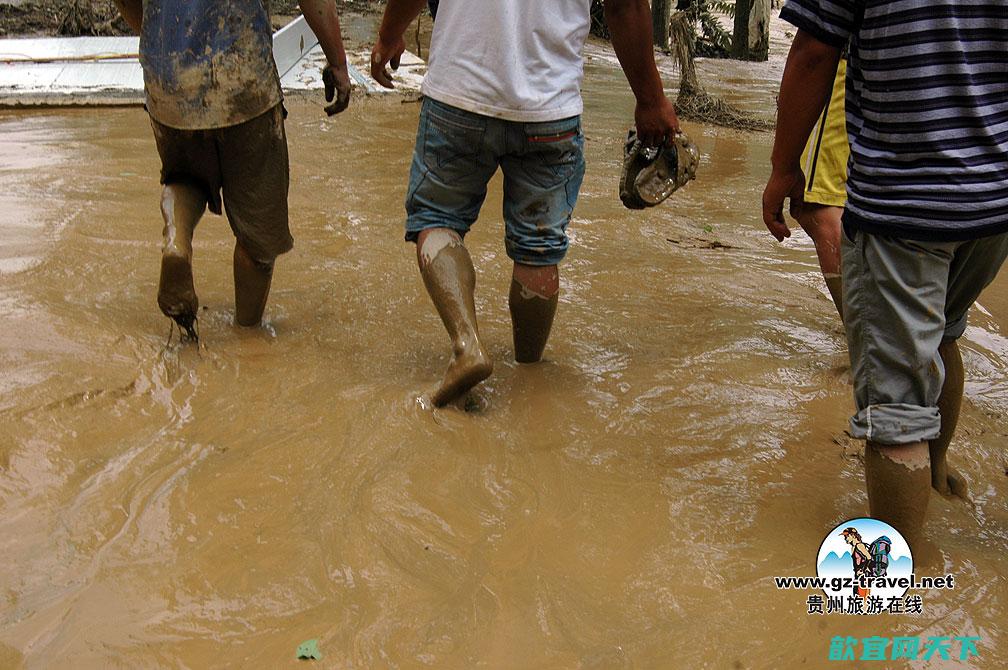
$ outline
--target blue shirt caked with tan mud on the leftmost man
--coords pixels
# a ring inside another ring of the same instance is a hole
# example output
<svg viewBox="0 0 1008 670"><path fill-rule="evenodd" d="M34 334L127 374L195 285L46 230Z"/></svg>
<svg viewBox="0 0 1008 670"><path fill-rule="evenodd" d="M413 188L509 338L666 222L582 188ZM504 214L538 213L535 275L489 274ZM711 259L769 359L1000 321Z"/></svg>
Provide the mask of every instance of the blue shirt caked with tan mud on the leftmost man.
<svg viewBox="0 0 1008 670"><path fill-rule="evenodd" d="M140 63L155 121L234 126L280 102L263 0L144 0Z"/></svg>

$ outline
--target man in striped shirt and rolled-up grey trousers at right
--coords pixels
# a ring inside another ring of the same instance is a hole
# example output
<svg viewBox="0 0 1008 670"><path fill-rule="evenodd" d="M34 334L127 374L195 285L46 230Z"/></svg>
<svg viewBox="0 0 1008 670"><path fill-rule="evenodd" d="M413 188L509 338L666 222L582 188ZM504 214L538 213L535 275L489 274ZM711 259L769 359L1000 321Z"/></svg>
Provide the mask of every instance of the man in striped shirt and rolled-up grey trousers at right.
<svg viewBox="0 0 1008 670"><path fill-rule="evenodd" d="M790 0L763 222L789 235L799 157L848 58L842 273L871 515L910 542L929 491L966 497L947 452L963 399L957 341L1008 255L1008 13L999 0Z"/></svg>

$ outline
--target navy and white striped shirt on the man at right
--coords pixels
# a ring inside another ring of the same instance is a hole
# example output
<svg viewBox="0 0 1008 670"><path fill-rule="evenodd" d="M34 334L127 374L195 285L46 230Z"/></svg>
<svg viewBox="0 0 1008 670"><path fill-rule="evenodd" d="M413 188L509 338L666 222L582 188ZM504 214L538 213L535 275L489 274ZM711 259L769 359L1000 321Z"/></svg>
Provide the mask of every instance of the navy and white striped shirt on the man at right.
<svg viewBox="0 0 1008 670"><path fill-rule="evenodd" d="M788 0L851 52L844 224L918 240L1008 231L1008 2Z"/></svg>

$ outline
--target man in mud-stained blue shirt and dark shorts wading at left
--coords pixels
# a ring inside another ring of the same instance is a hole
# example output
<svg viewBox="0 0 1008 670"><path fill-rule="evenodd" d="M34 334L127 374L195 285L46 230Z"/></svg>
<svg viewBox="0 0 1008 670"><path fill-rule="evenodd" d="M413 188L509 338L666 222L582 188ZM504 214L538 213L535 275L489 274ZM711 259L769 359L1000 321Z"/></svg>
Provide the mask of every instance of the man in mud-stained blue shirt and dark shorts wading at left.
<svg viewBox="0 0 1008 670"><path fill-rule="evenodd" d="M161 158L164 218L157 304L191 338L199 307L193 232L227 212L235 235L235 322L258 325L277 256L291 249L286 112L265 0L116 0L140 35L147 111ZM350 102L335 0L301 0L328 64L326 111Z"/></svg>

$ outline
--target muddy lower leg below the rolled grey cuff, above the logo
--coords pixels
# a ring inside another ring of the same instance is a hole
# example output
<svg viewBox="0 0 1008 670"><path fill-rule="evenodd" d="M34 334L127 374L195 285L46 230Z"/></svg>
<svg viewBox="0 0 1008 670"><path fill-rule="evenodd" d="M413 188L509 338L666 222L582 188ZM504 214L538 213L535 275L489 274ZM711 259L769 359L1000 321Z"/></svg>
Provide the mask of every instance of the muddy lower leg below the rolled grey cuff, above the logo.
<svg viewBox="0 0 1008 670"><path fill-rule="evenodd" d="M927 442L868 442L865 481L872 517L894 526L908 542L919 538L931 490Z"/></svg>

